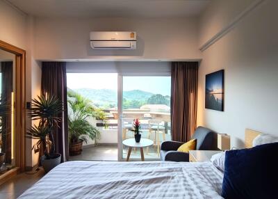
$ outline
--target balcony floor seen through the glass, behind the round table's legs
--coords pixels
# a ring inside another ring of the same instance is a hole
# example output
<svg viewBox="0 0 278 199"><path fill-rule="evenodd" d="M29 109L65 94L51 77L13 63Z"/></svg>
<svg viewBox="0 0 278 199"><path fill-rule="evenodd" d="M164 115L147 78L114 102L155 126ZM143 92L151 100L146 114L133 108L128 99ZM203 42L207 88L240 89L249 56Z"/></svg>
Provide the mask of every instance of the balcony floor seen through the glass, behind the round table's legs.
<svg viewBox="0 0 278 199"><path fill-rule="evenodd" d="M124 148L123 157L127 156L127 151L129 148ZM147 159L159 159L157 150L154 146L149 147L149 152L147 153L147 148L144 148L145 160ZM131 152L131 159L140 159L140 150L133 149ZM117 161L117 146L97 146L90 148L83 148L81 154L76 156L71 156L70 161L74 160L95 160L95 161Z"/></svg>

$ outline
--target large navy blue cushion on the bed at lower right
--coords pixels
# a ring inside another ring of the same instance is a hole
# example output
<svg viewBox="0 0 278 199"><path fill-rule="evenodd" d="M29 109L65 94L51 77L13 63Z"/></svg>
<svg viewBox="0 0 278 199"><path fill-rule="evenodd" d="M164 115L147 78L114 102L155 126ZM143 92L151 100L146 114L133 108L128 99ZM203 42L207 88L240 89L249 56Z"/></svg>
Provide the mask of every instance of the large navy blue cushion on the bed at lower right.
<svg viewBox="0 0 278 199"><path fill-rule="evenodd" d="M278 143L226 152L222 197L278 198Z"/></svg>

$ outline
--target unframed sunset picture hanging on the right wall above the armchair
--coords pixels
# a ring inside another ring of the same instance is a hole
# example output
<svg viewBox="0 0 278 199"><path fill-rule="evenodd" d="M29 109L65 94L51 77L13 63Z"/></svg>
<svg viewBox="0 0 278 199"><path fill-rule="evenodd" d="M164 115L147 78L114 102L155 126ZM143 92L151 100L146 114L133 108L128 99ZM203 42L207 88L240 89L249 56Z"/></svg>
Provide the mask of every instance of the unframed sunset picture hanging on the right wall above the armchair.
<svg viewBox="0 0 278 199"><path fill-rule="evenodd" d="M224 70L206 74L206 109L224 111Z"/></svg>

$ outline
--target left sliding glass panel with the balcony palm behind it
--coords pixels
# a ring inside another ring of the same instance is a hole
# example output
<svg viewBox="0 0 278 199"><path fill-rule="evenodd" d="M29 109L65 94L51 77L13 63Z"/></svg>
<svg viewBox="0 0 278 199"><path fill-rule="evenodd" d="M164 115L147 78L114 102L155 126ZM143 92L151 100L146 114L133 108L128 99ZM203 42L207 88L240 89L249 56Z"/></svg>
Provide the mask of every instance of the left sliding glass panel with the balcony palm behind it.
<svg viewBox="0 0 278 199"><path fill-rule="evenodd" d="M67 73L67 97L70 160L117 161L117 73ZM90 126L78 126L80 116ZM84 140L79 154L71 152L76 128Z"/></svg>

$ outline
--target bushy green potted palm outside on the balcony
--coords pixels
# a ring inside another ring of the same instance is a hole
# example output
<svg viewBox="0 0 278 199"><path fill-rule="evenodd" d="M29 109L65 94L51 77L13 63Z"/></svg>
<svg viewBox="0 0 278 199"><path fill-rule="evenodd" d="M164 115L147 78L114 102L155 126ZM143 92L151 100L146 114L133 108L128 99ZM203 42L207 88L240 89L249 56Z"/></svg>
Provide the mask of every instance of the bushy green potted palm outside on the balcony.
<svg viewBox="0 0 278 199"><path fill-rule="evenodd" d="M97 109L92 102L72 90L67 92L69 107L69 142L70 155L78 155L82 152L83 142L88 138L97 142L101 132L88 121L89 118L97 118L106 121L104 111Z"/></svg>

